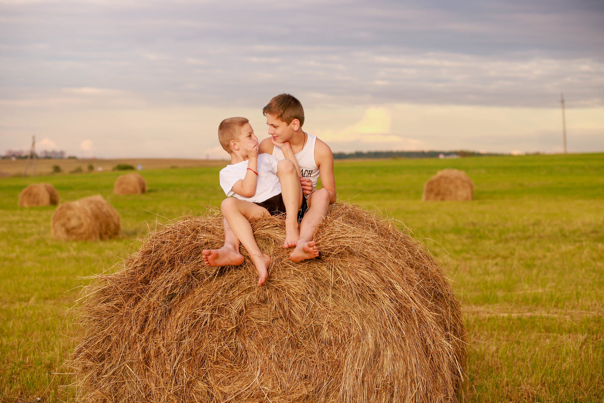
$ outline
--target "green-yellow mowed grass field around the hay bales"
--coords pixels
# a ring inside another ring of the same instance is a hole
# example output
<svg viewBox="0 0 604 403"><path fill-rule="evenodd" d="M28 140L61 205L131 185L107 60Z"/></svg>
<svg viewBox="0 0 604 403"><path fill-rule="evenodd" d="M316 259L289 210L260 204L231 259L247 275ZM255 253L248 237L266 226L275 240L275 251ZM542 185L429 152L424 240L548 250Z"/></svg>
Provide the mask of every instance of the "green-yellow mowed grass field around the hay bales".
<svg viewBox="0 0 604 403"><path fill-rule="evenodd" d="M472 178L475 200L422 202L423 184L449 167ZM112 194L117 172L0 179L0 401L72 401L65 312L82 277L156 225L218 206L219 169L144 170L140 196ZM335 173L339 199L396 219L442 262L471 340L463 401L604 401L604 154L336 161ZM121 237L53 240L54 207L17 206L32 182L62 202L102 195Z"/></svg>

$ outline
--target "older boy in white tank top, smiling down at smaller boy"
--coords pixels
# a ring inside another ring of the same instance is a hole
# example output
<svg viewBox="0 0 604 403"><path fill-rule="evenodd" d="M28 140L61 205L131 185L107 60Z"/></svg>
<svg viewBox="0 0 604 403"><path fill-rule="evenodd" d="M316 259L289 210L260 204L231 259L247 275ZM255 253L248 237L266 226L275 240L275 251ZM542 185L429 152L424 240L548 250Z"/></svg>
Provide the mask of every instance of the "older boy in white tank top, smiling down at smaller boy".
<svg viewBox="0 0 604 403"><path fill-rule="evenodd" d="M269 153L278 160L290 158L284 152L291 150L300 166L301 185L308 208L300 223L300 236L289 255L294 262L313 259L319 255L313 237L315 229L327 213L327 207L336 201L333 175L333 153L326 143L302 130L304 109L292 95L280 94L263 109L270 138L260 143L259 152ZM316 182L321 175L321 189Z"/></svg>

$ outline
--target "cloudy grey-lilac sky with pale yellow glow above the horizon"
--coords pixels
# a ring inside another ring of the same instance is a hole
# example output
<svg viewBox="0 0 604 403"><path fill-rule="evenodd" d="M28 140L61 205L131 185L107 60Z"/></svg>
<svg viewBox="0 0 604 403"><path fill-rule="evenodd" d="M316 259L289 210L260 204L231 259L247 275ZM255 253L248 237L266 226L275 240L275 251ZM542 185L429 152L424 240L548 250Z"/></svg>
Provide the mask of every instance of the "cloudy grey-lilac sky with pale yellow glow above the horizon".
<svg viewBox="0 0 604 403"><path fill-rule="evenodd" d="M604 151L601 0L0 0L0 153L228 158L277 94L334 152Z"/></svg>

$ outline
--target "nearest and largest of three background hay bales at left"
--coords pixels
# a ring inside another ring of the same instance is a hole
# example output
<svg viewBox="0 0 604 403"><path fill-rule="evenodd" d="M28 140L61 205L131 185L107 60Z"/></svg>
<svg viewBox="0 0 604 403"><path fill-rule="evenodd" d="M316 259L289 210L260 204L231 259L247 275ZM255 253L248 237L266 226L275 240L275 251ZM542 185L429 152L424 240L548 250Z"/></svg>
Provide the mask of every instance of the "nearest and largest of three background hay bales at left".
<svg viewBox="0 0 604 403"><path fill-rule="evenodd" d="M111 239L120 228L117 211L100 195L63 203L52 218L53 237L59 240Z"/></svg>

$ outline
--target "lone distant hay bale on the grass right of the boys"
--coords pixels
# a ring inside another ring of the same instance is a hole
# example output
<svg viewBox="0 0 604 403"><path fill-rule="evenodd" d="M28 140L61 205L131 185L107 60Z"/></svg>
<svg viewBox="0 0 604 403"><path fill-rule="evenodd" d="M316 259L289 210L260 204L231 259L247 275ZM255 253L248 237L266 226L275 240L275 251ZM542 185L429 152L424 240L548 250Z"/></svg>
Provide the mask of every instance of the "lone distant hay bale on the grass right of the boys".
<svg viewBox="0 0 604 403"><path fill-rule="evenodd" d="M424 201L472 200L473 198L472 179L458 169L443 169L432 176L423 187Z"/></svg>

